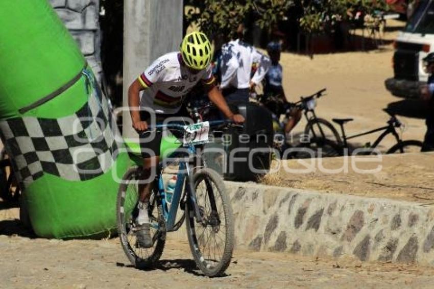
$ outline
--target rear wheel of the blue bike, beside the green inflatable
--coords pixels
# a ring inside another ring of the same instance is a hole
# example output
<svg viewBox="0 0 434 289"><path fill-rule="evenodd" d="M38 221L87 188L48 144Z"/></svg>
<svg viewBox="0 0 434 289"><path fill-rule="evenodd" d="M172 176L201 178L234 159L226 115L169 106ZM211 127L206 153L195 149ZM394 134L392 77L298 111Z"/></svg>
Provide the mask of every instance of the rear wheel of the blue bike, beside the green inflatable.
<svg viewBox="0 0 434 289"><path fill-rule="evenodd" d="M150 268L163 253L165 244L164 220L161 201L157 198L158 190L153 186L149 201L149 218L151 220L151 236L154 245L151 248L140 248L136 238L136 218L138 216L137 202L139 199L138 184L141 170L135 166L130 168L123 177L117 193L117 230L120 244L130 262L139 269ZM133 205L133 206L132 206ZM128 208L133 208L128 210Z"/></svg>

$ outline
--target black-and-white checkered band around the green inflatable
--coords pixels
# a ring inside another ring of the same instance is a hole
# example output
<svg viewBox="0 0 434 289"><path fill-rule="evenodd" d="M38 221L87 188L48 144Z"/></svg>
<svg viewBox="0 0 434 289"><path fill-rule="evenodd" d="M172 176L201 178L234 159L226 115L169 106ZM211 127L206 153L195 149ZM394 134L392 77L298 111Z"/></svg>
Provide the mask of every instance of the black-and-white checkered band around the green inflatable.
<svg viewBox="0 0 434 289"><path fill-rule="evenodd" d="M44 174L83 181L110 170L117 157L118 130L106 98L98 94L91 93L73 115L0 122L3 143L23 187Z"/></svg>

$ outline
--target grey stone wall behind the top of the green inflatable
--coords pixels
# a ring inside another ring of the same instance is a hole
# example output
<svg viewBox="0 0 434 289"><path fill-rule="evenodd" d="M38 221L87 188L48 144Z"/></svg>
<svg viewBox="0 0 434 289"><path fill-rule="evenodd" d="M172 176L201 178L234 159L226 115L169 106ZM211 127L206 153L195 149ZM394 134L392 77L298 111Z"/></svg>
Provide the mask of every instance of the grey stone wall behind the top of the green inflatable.
<svg viewBox="0 0 434 289"><path fill-rule="evenodd" d="M99 0L50 0L101 83Z"/></svg>

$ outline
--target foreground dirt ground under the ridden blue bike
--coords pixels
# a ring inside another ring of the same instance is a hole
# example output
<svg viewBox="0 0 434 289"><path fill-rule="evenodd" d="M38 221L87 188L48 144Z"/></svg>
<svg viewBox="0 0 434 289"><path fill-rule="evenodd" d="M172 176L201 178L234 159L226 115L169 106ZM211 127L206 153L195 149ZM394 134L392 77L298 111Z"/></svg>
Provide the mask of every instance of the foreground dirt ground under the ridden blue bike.
<svg viewBox="0 0 434 289"><path fill-rule="evenodd" d="M226 275L210 279L192 261L188 244L168 240L155 269L128 263L119 242L0 236L2 288L197 287L432 287L434 269L277 253L235 251Z"/></svg>

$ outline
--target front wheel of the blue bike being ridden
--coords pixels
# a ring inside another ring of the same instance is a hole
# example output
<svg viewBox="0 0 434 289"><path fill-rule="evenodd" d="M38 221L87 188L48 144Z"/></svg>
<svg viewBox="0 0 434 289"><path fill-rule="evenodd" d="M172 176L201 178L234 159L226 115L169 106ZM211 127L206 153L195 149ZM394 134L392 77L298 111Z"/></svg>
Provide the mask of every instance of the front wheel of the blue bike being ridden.
<svg viewBox="0 0 434 289"><path fill-rule="evenodd" d="M195 206L188 202L187 235L191 253L199 269L207 276L222 275L231 261L234 247L232 207L223 179L203 168L194 175L200 220Z"/></svg>

